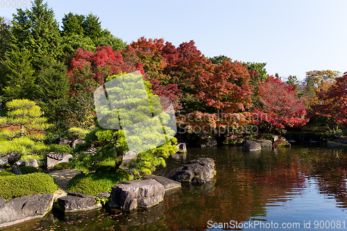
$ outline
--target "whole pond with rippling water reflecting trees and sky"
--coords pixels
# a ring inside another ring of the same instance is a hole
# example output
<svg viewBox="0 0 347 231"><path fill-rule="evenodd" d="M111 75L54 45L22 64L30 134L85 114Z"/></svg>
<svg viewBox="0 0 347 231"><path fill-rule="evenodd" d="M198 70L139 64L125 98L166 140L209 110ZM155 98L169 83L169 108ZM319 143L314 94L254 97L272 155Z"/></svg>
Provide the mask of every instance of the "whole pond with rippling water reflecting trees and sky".
<svg viewBox="0 0 347 231"><path fill-rule="evenodd" d="M53 212L3 230L346 230L347 150L292 146L244 152L241 147L188 148L162 174L196 157L212 157L217 175L184 185L151 209Z"/></svg>

